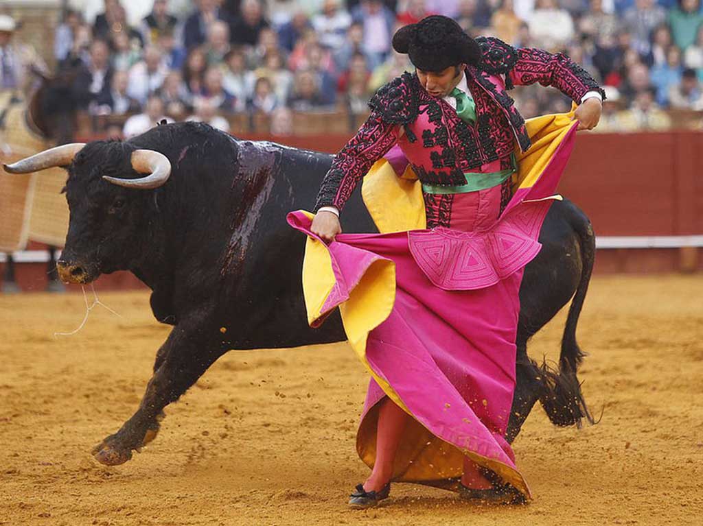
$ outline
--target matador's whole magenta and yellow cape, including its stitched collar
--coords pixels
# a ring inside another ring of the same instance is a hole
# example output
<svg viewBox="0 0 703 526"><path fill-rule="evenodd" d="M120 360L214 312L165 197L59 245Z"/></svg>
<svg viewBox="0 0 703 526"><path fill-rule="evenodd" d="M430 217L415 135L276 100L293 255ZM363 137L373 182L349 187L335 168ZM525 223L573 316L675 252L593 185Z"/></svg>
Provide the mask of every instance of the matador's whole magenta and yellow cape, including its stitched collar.
<svg viewBox="0 0 703 526"><path fill-rule="evenodd" d="M491 469L529 496L503 438L515 388L518 292L536 256L544 216L574 145L573 114L530 119L528 152L517 151L513 196L488 230L425 228L411 168L381 159L363 180L380 234L342 234L327 245L312 214L288 221L308 235L302 282L308 322L340 308L349 344L371 375L356 438L373 467L378 402L413 416L394 481L456 489L463 459ZM394 169L395 164L395 169Z"/></svg>

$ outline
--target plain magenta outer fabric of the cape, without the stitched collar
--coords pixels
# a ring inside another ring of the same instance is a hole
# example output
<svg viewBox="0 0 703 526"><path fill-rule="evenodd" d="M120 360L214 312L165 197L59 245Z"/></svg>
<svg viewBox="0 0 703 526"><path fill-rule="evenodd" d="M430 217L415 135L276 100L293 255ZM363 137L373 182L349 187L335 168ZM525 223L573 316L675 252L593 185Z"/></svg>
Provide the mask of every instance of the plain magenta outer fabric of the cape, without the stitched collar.
<svg viewBox="0 0 703 526"><path fill-rule="evenodd" d="M312 235L310 220L302 213L291 213L288 221ZM491 287L446 291L415 263L408 232L341 234L328 249L337 286L325 311L349 297L359 270L374 258L396 265L394 308L371 331L366 345L374 372L387 379L415 419L434 435L515 468L503 435L515 387L522 270ZM372 381L364 415L384 395Z"/></svg>

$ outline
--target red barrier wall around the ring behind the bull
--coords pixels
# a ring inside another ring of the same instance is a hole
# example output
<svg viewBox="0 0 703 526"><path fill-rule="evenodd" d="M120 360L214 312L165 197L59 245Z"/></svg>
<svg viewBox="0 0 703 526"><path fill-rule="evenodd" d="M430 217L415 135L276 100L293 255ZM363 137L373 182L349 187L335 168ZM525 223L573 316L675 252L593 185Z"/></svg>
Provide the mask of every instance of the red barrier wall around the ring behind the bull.
<svg viewBox="0 0 703 526"><path fill-rule="evenodd" d="M246 138L323 152L337 152L347 140L338 135ZM703 132L581 132L559 190L588 214L596 235L701 235ZM596 258L597 272L671 272L680 266L678 249L603 249ZM688 266L703 270L703 257ZM18 265L17 275L23 289L44 289L46 265ZM123 272L100 281L101 289L138 284Z"/></svg>

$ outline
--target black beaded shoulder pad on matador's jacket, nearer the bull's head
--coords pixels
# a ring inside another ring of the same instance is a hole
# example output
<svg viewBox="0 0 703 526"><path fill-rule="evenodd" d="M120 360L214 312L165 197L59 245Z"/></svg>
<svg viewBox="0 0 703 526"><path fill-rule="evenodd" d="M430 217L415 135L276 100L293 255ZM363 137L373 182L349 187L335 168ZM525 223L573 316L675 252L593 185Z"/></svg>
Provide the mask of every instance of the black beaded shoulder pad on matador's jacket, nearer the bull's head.
<svg viewBox="0 0 703 526"><path fill-rule="evenodd" d="M418 117L418 79L405 72L381 86L368 106L389 124L408 124Z"/></svg>

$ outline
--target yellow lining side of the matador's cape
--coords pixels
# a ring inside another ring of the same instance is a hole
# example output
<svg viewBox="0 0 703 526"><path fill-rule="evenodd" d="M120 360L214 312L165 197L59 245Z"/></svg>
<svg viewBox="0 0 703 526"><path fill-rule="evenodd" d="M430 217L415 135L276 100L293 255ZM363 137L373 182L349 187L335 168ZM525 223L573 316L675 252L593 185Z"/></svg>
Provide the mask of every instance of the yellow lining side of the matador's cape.
<svg viewBox="0 0 703 526"><path fill-rule="evenodd" d="M548 166L557 146L572 126L576 126L576 121L571 120L572 114L546 115L527 121L532 147L524 154L516 152L519 169L513 176L515 190L534 185ZM380 159L363 180L362 196L380 232L426 228L422 188L410 166L399 178L392 166L385 159ZM306 215L312 217L311 213L306 212ZM322 308L334 284L335 276L328 250L320 242L308 238L303 263L303 290L311 326L318 325L328 315L322 312ZM392 386L375 374L366 361L368 334L391 313L395 291L394 263L377 261L350 291L349 300L340 305L340 313L349 343L359 360L386 395L411 414ZM359 456L370 467L375 462L377 419L378 407L373 407L357 434L356 448ZM475 452L457 449L432 435L414 419L408 424L396 454L393 480L457 489L457 479L462 473L465 455L479 465L490 468L529 496L529 488L522 475L513 468Z"/></svg>

